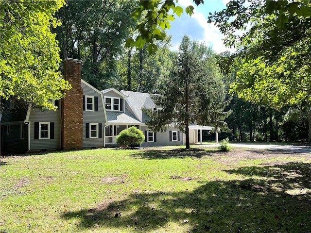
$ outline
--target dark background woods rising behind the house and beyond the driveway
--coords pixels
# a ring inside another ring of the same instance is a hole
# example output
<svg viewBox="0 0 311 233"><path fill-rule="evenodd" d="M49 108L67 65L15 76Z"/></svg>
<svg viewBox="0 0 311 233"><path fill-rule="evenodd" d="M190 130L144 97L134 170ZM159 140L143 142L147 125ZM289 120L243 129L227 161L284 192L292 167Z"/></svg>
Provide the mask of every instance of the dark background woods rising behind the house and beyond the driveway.
<svg viewBox="0 0 311 233"><path fill-rule="evenodd" d="M148 43L141 49L124 48L125 39L135 33L140 23L130 17L137 4L132 0L67 1L56 13L62 23L54 30L60 57L81 60L83 78L100 90L114 87L158 93L159 81L170 74L177 52L169 50L169 36L158 42L157 51L151 55L147 51ZM228 90L235 74L223 75ZM226 110L232 110L225 119L231 131L221 133L220 138L237 141L305 141L308 138L308 113L299 106L288 105L276 111L234 94ZM214 138L205 132L203 139Z"/></svg>

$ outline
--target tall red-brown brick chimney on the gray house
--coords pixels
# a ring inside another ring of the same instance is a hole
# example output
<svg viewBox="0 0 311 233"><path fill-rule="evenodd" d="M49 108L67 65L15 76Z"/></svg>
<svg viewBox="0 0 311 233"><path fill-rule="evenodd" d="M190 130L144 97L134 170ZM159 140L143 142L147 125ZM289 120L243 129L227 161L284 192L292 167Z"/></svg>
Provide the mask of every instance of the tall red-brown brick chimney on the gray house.
<svg viewBox="0 0 311 233"><path fill-rule="evenodd" d="M83 90L81 88L81 62L66 58L64 79L71 84L62 99L62 149L82 149L83 140Z"/></svg>

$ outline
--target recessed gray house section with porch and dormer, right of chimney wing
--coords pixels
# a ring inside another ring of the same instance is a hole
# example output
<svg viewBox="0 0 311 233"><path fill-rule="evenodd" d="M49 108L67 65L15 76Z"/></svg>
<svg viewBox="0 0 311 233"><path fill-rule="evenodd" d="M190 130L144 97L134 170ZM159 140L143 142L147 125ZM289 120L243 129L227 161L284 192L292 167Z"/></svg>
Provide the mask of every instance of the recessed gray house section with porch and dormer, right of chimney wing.
<svg viewBox="0 0 311 233"><path fill-rule="evenodd" d="M120 92L114 88L102 90L108 124L105 126L105 146L117 146L116 136L124 129L136 126L145 134L142 147L183 145L185 134L175 128L168 128L165 132L152 132L145 122L147 115L142 111L147 109L161 109L155 106L148 93L133 91Z"/></svg>

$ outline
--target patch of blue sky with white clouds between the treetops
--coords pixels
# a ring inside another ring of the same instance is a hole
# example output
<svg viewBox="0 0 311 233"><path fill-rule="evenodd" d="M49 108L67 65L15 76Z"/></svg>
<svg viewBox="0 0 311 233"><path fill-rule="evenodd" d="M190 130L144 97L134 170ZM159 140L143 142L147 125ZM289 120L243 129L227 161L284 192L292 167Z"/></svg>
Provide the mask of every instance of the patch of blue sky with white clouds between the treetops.
<svg viewBox="0 0 311 233"><path fill-rule="evenodd" d="M187 34L191 39L205 43L207 46L217 52L234 49L225 48L223 44L224 36L219 32L214 24L207 24L209 12L221 11L225 9L225 5L229 0L204 0L204 4L196 6L192 0L179 0L178 5L185 8L186 6L194 6L194 14L190 17L185 12L180 16L175 16L175 20L171 22L171 29L168 34L172 35L172 49L178 50L178 46L182 37Z"/></svg>

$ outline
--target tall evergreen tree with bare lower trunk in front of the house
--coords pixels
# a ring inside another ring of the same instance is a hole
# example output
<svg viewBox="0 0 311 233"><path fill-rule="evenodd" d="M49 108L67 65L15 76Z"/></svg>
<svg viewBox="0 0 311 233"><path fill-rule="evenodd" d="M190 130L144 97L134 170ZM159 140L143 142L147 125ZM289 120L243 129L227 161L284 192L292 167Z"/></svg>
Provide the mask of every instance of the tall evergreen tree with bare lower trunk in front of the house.
<svg viewBox="0 0 311 233"><path fill-rule="evenodd" d="M164 131L168 125L179 128L186 134L186 149L190 148L192 123L227 129L223 120L230 112L223 112L228 100L215 53L187 35L181 41L169 77L161 80L159 94L153 99L163 109L145 110L150 116L147 125L154 131Z"/></svg>

